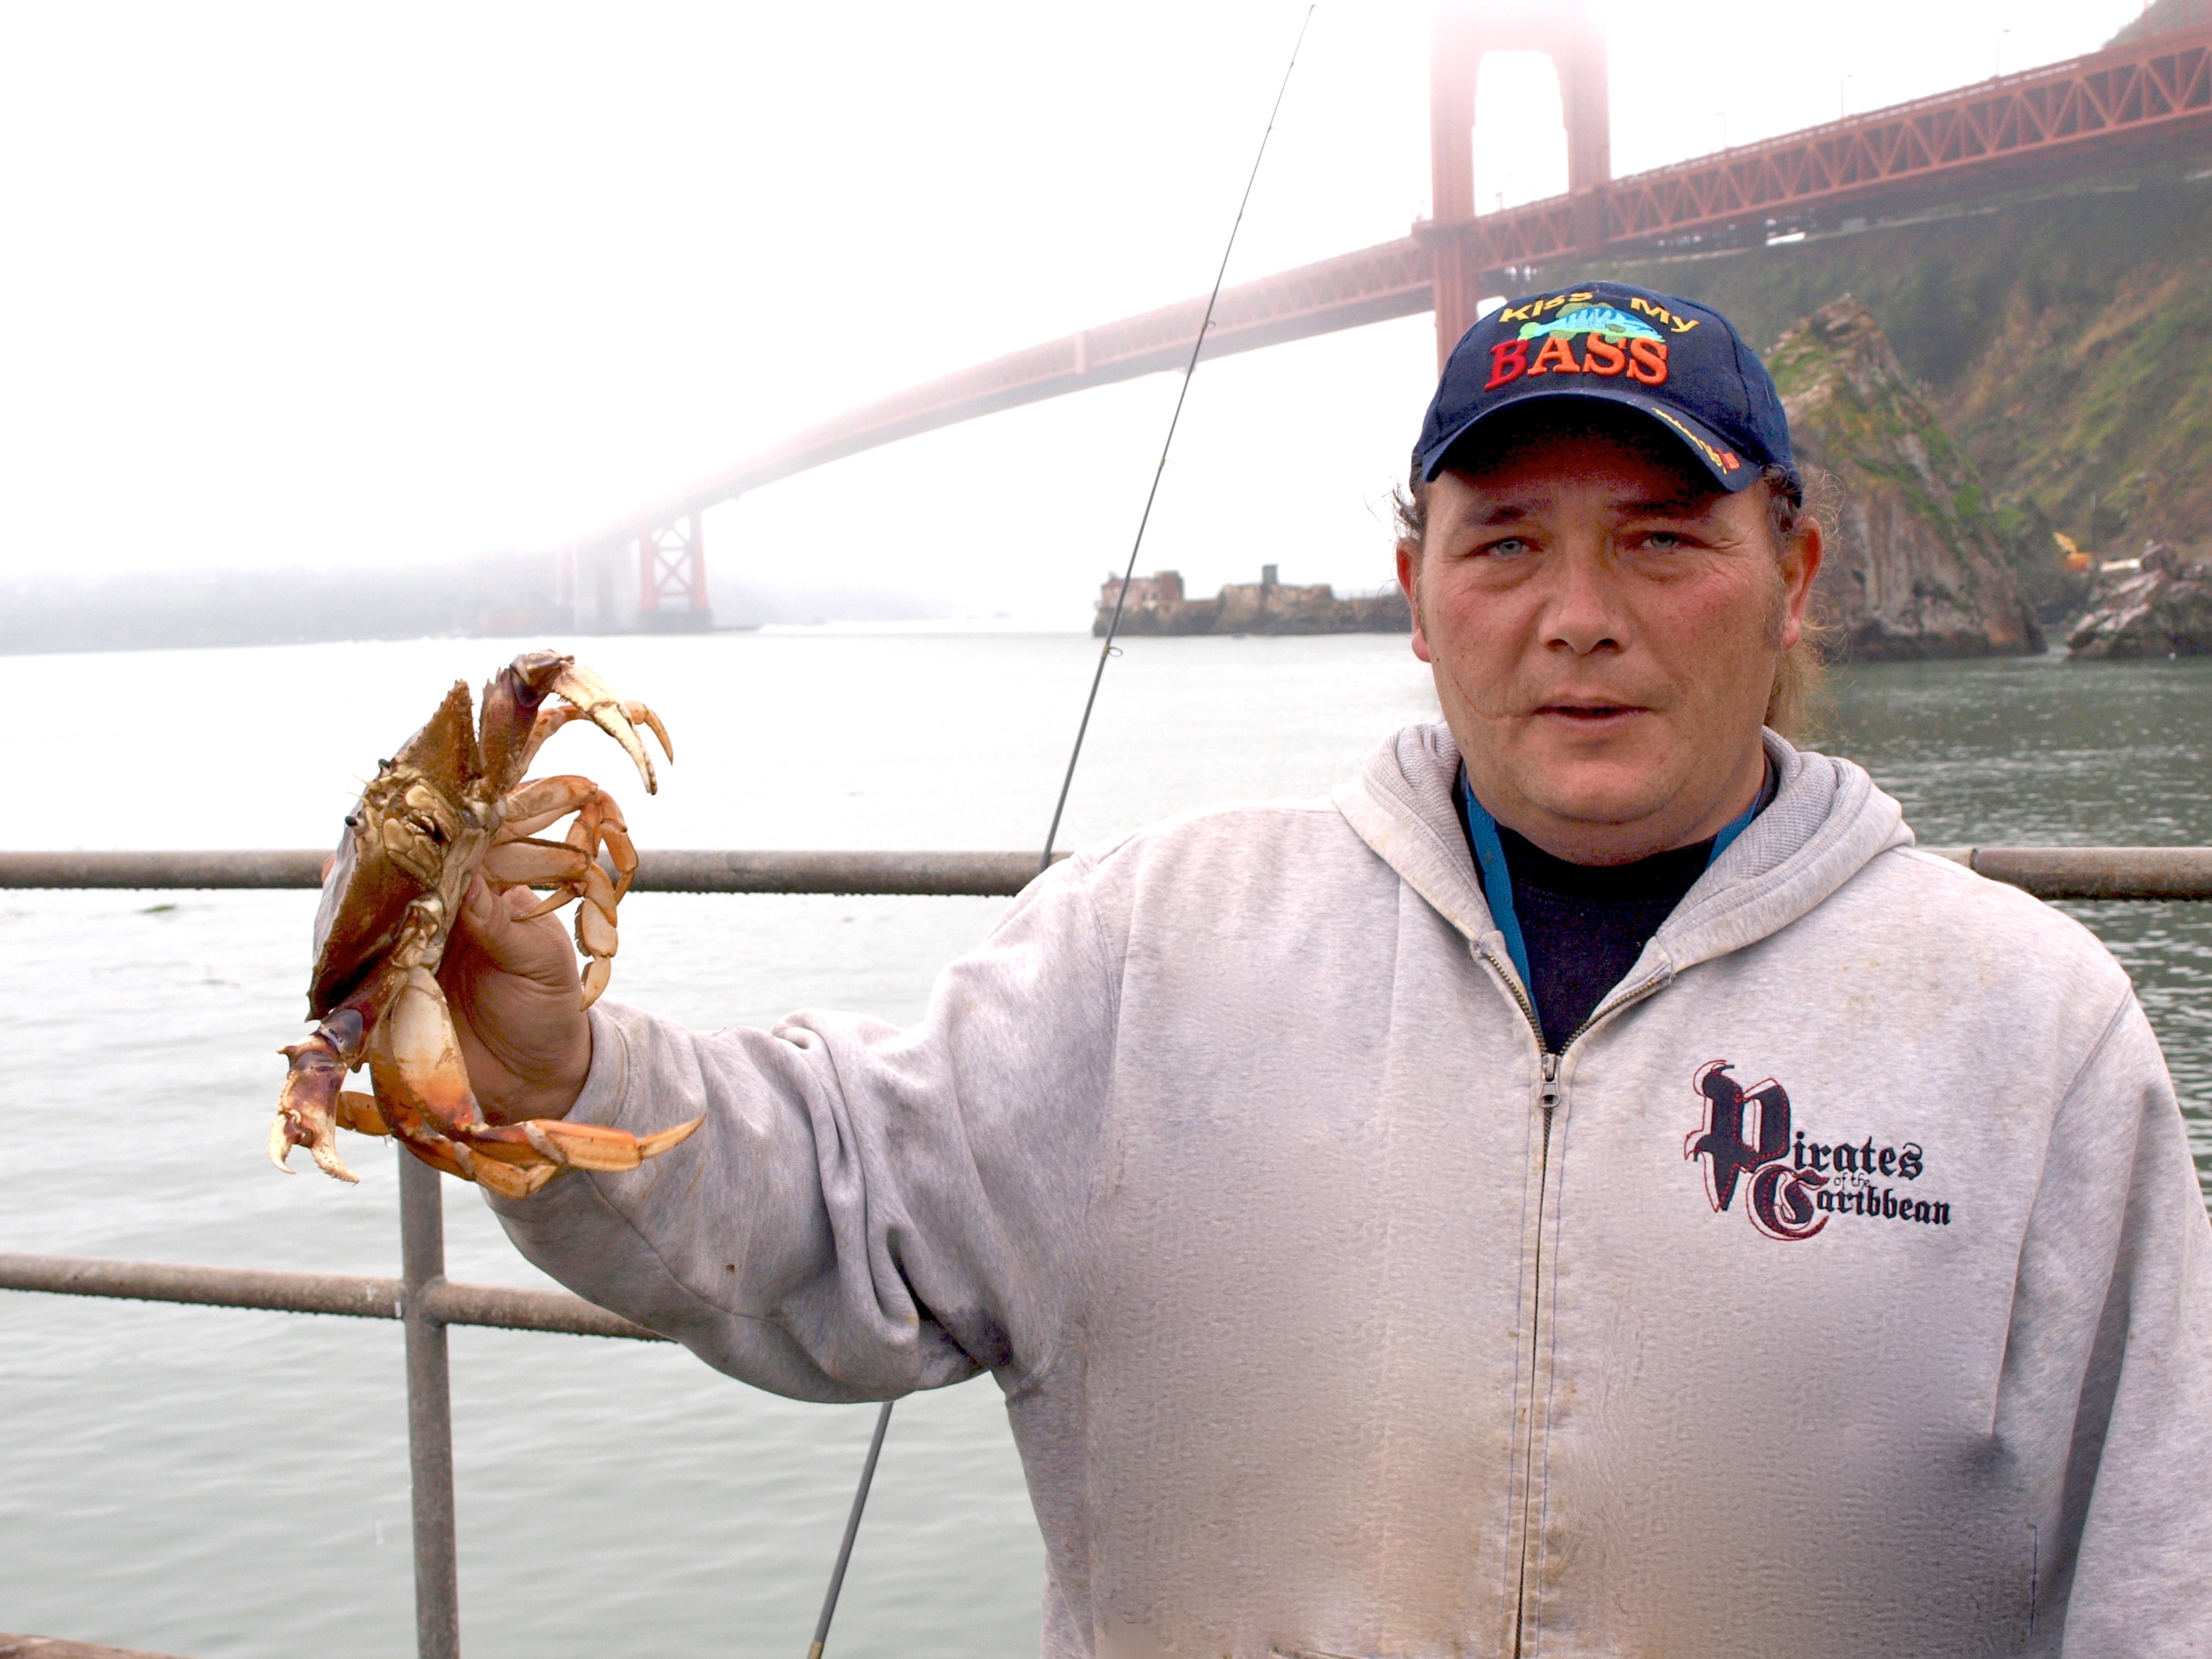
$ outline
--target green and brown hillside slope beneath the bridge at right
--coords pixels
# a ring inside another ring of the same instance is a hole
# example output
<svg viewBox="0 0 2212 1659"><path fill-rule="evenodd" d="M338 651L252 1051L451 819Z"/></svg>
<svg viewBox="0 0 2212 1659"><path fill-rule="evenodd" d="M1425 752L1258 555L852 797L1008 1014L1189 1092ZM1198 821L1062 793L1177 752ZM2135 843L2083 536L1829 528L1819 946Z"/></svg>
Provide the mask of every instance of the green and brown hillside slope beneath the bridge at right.
<svg viewBox="0 0 2212 1659"><path fill-rule="evenodd" d="M1761 349L1858 299L1986 480L2037 602L2059 582L2053 529L2104 553L2212 544L2212 179L1588 274L1717 305Z"/></svg>

